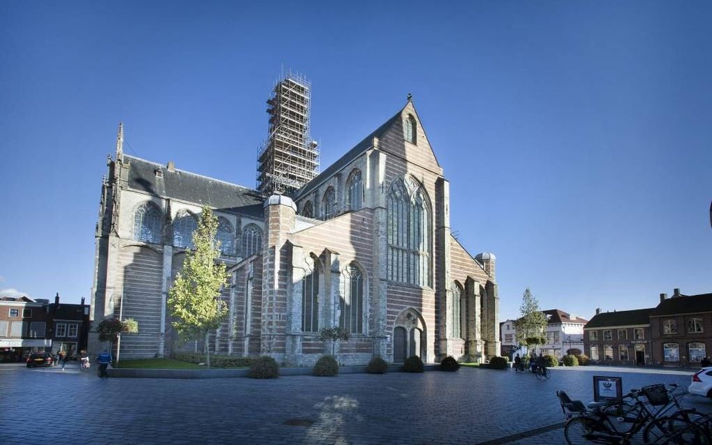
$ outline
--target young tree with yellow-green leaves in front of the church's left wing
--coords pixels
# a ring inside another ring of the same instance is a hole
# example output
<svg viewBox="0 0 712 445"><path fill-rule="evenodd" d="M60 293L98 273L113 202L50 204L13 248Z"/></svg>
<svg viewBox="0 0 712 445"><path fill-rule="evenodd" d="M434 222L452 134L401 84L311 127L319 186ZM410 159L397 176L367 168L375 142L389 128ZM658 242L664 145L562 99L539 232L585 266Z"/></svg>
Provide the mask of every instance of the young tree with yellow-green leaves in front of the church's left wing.
<svg viewBox="0 0 712 445"><path fill-rule="evenodd" d="M220 243L215 234L218 219L208 206L203 206L197 229L193 232L194 250L186 253L182 270L168 293L168 307L174 320L171 325L184 340L205 338L206 364L210 367L209 335L219 328L228 314L220 299L220 288L228 274L220 263Z"/></svg>

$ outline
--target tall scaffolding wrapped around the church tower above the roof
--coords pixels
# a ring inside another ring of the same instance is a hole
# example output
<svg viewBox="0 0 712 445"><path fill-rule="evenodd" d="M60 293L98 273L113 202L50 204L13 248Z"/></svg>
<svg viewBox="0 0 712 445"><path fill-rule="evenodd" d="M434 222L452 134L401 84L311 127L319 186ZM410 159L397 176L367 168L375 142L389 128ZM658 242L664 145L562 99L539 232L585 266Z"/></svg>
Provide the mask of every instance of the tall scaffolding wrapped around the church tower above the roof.
<svg viewBox="0 0 712 445"><path fill-rule="evenodd" d="M319 150L311 140L311 84L298 74L278 80L267 100L269 136L257 152L257 189L292 194L319 174Z"/></svg>

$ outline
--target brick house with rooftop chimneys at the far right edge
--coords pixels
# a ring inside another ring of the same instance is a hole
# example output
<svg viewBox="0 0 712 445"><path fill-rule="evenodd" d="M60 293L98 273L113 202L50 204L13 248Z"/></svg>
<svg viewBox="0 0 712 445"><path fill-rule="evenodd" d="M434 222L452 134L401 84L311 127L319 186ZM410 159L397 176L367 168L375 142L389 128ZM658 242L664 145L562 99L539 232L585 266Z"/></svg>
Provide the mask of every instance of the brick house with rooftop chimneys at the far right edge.
<svg viewBox="0 0 712 445"><path fill-rule="evenodd" d="M650 314L652 357L664 365L699 365L712 349L712 293L671 298L660 295L660 304Z"/></svg>

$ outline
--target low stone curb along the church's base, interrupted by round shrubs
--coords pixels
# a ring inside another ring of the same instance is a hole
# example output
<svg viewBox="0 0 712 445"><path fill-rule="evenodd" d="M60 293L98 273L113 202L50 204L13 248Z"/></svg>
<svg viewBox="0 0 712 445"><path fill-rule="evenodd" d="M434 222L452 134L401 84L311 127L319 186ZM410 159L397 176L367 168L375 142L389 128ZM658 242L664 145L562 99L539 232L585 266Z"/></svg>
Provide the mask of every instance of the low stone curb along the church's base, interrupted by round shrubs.
<svg viewBox="0 0 712 445"><path fill-rule="evenodd" d="M388 372L400 372L401 365L388 365ZM426 371L439 370L439 364L425 365ZM340 366L339 374L365 374L367 366ZM250 370L239 368L232 370L140 370L132 368L108 367L109 377L132 379L227 379L234 377L247 377ZM290 375L312 375L311 367L281 367L280 377Z"/></svg>

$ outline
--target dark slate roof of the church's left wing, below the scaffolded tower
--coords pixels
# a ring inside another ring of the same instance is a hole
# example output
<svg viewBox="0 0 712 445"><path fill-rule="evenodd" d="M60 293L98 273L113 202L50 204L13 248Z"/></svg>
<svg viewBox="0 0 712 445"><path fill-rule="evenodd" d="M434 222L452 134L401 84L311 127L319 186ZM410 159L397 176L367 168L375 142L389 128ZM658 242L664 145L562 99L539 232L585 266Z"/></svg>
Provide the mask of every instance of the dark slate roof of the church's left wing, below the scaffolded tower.
<svg viewBox="0 0 712 445"><path fill-rule="evenodd" d="M132 189L263 218L266 197L257 190L180 169L171 172L165 165L130 155L124 155L124 162L129 163L128 185ZM156 176L157 170L162 178Z"/></svg>

